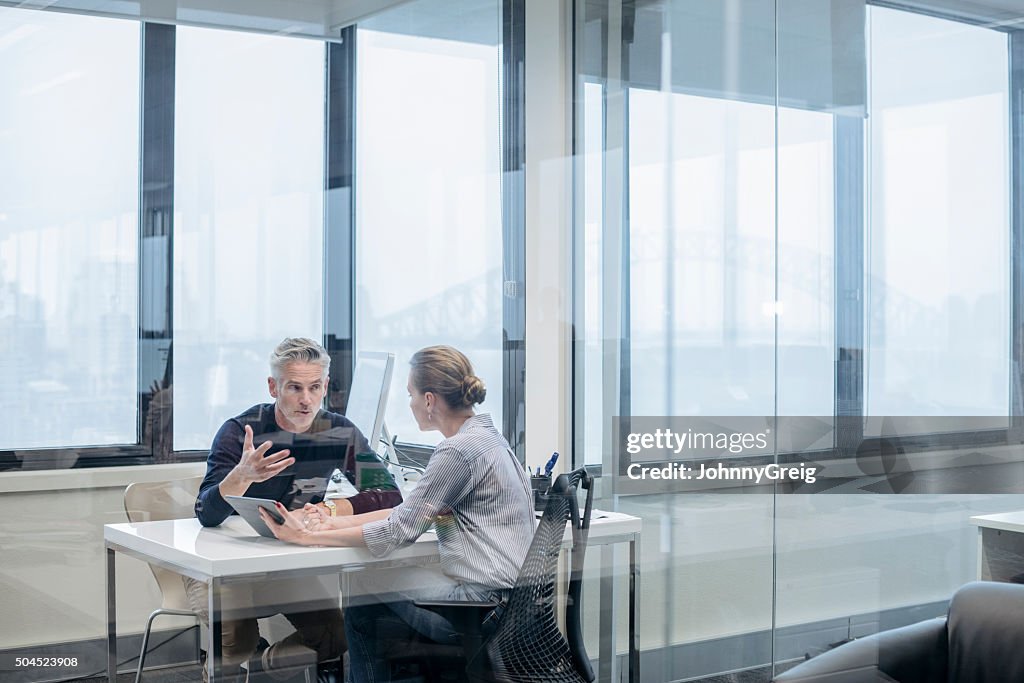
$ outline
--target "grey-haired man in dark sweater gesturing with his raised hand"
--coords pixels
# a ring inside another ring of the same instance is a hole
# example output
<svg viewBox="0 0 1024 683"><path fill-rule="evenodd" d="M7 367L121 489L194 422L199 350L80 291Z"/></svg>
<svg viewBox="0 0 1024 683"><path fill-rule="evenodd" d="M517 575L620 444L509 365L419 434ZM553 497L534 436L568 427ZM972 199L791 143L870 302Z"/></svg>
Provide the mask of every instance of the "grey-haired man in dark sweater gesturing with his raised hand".
<svg viewBox="0 0 1024 683"><path fill-rule="evenodd" d="M315 492L317 495L312 500L306 498L307 492L296 481L295 472L299 468L292 466L308 463L313 458L322 460L324 449L313 447L323 443L316 440L316 434L338 428L351 430L349 447L332 455L330 460L345 473L358 493L329 502L331 514L360 514L392 508L401 502L401 494L393 480L382 485L380 477L375 477L372 488L359 487L355 455L373 453L373 450L347 418L323 410L330 366L331 356L327 350L311 339L288 338L273 350L267 388L274 401L253 405L231 418L213 439L206 478L196 500L196 516L204 526L217 526L234 512L224 500L225 496L280 501L300 519L304 505L324 506L323 502L317 502L322 492ZM300 438L294 438L299 434ZM274 439L289 447L270 453ZM254 445L257 441L261 442ZM184 582L189 603L208 623L206 584L190 579ZM316 594L313 598L310 597L310 584L314 587L312 593ZM250 660L250 673L262 670L272 674L274 670L287 668L289 661L301 659L309 650L315 652L317 661L340 656L346 646L337 590L317 593L315 586L318 584L309 580L279 580L228 587L232 594L222 598L227 613L222 623L225 674L230 676L239 672L246 660ZM301 610L293 608L297 602L305 606ZM296 633L268 645L260 637L256 617L278 612L288 617ZM322 672L321 680L331 680L330 675Z"/></svg>

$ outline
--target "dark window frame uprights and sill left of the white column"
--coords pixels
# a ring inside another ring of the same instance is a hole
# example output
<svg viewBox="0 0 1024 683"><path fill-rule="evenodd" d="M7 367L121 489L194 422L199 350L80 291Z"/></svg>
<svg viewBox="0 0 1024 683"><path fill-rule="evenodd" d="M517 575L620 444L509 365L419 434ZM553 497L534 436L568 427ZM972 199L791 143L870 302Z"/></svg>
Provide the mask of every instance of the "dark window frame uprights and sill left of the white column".
<svg viewBox="0 0 1024 683"><path fill-rule="evenodd" d="M38 10L37 10L38 11ZM523 82L525 60L525 0L502 0L502 245L503 245L503 349L505 436L516 456L525 458L525 118ZM332 356L331 384L335 390L351 383L354 319L355 262L355 24L326 39L325 96L325 202L324 202L324 339ZM174 221L174 79L176 25L139 20L139 329L136 442L103 446L0 450L0 472L29 469L67 469L158 464L156 444L144 442L146 414L153 394L143 368L165 367L161 384L173 384L173 221ZM239 29L245 31L245 29ZM349 189L347 201L334 201L331 190ZM166 262L144 258L142 240L166 238ZM148 283L148 284L146 284ZM332 295L333 293L333 295ZM163 307L161 307L163 306ZM141 321L157 321L143 329ZM344 411L347 392L329 410ZM411 463L426 462L431 447L399 442L400 457ZM203 462L207 451L171 450L170 460ZM72 457L74 456L74 457Z"/></svg>

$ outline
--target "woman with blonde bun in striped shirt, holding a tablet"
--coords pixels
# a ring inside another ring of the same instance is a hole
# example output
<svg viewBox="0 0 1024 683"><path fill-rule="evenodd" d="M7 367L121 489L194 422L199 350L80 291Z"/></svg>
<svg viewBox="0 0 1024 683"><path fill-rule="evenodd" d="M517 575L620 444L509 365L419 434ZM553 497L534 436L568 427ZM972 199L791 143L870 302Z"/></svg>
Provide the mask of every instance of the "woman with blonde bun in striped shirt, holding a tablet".
<svg viewBox="0 0 1024 683"><path fill-rule="evenodd" d="M433 524L440 566L353 574L345 610L353 681L390 680L384 653L415 633L457 643L440 615L414 600L498 600L515 584L534 536L529 478L490 416L476 414L486 389L469 359L451 346L429 346L410 361L410 409L422 431L439 431L422 478L392 510L327 517L309 509L306 526L285 515L269 527L279 539L310 546L360 546L385 556ZM500 609L501 607L499 607ZM386 634L388 642L381 642Z"/></svg>

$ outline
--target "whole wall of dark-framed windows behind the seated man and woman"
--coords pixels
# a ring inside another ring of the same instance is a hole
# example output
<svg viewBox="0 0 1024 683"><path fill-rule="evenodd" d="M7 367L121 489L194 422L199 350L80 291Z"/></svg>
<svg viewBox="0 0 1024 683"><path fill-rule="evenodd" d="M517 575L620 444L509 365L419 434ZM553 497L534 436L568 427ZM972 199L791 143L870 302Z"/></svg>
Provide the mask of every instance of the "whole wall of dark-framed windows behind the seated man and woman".
<svg viewBox="0 0 1024 683"><path fill-rule="evenodd" d="M408 360L454 344L482 410L519 414L521 433L521 389L503 400L522 384L506 367L522 297L503 292L521 269L503 177L505 135L522 143L503 111L522 96L503 75L521 11L172 2L150 22L132 3L11 4L27 3L0 0L0 680L96 680L103 525L126 521L128 484L203 474L224 420L270 400L284 337L325 342L338 411L353 349L394 352L389 426L416 445L433 435L411 419ZM316 30L302 19L318 10ZM123 557L117 591L124 674L161 594ZM158 620L147 668L200 680L198 637Z"/></svg>

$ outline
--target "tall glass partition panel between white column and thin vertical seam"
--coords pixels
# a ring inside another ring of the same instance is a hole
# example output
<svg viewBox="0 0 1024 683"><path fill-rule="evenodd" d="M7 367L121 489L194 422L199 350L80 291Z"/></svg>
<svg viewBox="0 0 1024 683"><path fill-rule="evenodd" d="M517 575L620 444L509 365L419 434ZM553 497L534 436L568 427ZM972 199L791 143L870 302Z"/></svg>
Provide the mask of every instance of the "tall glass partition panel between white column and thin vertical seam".
<svg viewBox="0 0 1024 683"><path fill-rule="evenodd" d="M602 465L598 508L643 520L645 681L770 658L773 498L626 490L608 434L618 415L774 413L774 48L736 40L774 19L754 4L578 7L574 455Z"/></svg>

